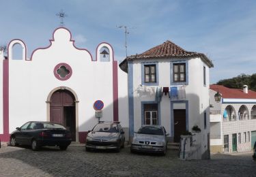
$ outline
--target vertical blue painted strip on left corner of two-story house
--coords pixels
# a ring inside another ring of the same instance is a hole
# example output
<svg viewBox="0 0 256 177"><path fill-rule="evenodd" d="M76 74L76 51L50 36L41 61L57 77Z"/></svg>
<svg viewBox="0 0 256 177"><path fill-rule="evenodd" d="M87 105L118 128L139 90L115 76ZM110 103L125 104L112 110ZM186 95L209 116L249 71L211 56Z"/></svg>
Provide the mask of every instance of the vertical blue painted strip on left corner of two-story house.
<svg viewBox="0 0 256 177"><path fill-rule="evenodd" d="M128 61L129 136L134 133L133 63Z"/></svg>

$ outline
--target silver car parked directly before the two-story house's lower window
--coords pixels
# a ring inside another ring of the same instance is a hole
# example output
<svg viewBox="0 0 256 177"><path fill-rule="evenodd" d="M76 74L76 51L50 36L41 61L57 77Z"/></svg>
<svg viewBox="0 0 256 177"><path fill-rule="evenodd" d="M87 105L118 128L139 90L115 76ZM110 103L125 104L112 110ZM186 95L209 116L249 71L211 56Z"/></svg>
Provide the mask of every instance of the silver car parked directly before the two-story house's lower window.
<svg viewBox="0 0 256 177"><path fill-rule="evenodd" d="M165 127L160 125L143 125L134 132L130 152L167 153L167 135Z"/></svg>

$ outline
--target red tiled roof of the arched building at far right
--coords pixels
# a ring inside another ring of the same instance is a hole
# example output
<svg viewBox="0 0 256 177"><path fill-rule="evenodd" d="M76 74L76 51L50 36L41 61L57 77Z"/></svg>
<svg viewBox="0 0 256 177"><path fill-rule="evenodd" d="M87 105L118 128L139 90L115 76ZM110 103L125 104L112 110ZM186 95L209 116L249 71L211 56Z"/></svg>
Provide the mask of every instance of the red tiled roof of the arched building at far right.
<svg viewBox="0 0 256 177"><path fill-rule="evenodd" d="M256 92L248 90L244 93L242 89L227 88L222 85L210 85L210 89L221 93L223 98L236 98L236 99L256 99Z"/></svg>

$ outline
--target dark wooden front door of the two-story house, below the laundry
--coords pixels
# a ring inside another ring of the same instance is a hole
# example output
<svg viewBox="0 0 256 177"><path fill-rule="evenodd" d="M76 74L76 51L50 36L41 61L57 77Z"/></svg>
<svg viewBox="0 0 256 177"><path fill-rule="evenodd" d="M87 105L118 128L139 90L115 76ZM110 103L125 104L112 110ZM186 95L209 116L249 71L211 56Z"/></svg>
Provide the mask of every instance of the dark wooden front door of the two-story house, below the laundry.
<svg viewBox="0 0 256 177"><path fill-rule="evenodd" d="M173 110L174 142L180 142L180 135L186 131L186 110Z"/></svg>

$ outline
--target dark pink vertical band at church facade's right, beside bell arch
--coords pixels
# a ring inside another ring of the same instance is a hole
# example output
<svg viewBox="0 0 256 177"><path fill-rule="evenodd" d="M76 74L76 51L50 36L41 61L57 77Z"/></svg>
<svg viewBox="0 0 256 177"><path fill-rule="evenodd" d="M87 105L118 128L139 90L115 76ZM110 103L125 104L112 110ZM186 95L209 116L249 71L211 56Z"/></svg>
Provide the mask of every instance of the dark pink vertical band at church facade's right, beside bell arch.
<svg viewBox="0 0 256 177"><path fill-rule="evenodd" d="M113 119L118 121L118 63L113 61Z"/></svg>

